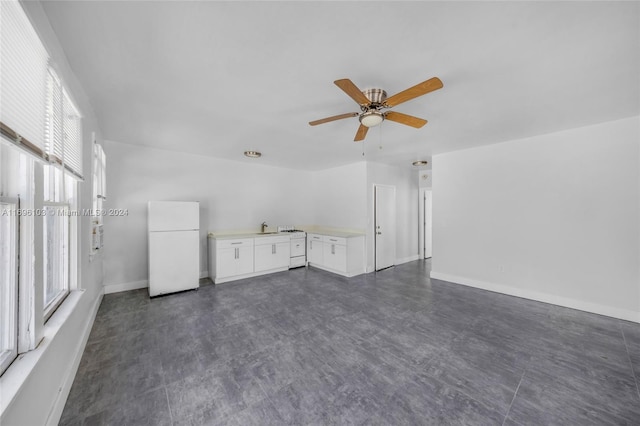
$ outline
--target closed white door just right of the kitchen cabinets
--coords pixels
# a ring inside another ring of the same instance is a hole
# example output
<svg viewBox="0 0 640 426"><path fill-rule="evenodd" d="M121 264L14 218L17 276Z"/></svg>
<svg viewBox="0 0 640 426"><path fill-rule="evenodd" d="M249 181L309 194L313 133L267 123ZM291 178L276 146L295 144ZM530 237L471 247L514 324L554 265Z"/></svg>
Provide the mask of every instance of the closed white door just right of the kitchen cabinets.
<svg viewBox="0 0 640 426"><path fill-rule="evenodd" d="M396 187L374 186L376 271L396 260Z"/></svg>

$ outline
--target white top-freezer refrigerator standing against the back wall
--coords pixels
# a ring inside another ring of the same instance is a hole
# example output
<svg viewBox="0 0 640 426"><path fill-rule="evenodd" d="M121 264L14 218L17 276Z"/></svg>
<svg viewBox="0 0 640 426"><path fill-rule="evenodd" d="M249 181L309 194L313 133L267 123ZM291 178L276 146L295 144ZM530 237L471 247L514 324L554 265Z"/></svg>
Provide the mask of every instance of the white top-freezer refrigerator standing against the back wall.
<svg viewBox="0 0 640 426"><path fill-rule="evenodd" d="M149 201L149 296L198 288L200 204Z"/></svg>

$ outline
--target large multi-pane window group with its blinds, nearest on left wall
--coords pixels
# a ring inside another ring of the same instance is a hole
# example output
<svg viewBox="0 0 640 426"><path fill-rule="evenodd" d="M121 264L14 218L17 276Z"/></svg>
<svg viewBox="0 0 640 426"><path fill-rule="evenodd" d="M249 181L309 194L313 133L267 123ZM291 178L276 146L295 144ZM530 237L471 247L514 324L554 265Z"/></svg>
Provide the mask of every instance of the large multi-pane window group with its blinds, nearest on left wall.
<svg viewBox="0 0 640 426"><path fill-rule="evenodd" d="M82 116L21 2L0 1L0 28L2 374L79 287L83 170Z"/></svg>

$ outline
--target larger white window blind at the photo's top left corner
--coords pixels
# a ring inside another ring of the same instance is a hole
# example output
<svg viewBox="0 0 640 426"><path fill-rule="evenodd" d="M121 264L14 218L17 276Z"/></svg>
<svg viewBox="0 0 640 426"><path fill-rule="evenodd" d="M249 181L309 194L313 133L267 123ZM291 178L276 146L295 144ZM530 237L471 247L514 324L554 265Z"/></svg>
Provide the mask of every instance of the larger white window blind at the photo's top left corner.
<svg viewBox="0 0 640 426"><path fill-rule="evenodd" d="M2 134L41 156L45 139L49 55L18 1L0 1Z"/></svg>

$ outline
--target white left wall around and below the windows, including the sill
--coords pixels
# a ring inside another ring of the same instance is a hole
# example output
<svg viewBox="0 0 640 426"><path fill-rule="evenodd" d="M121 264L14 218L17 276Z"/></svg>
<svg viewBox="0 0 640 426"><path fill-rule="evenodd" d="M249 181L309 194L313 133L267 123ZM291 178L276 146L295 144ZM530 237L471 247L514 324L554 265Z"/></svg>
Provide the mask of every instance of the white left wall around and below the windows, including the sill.
<svg viewBox="0 0 640 426"><path fill-rule="evenodd" d="M91 209L91 133L96 132L98 142L101 141L98 122L88 97L71 71L41 4L22 2L22 5L82 112L85 181L79 185L79 207ZM84 291L74 292L69 300L62 304L45 324L42 331L44 339L40 346L14 361L0 379L2 407L6 407L0 417L0 424L3 426L56 424L62 414L103 291L102 257L98 255L93 261L89 261L90 233L90 218L81 217L79 285ZM73 309L68 309L70 305L73 305ZM17 388L17 393L11 400L7 399L8 388Z"/></svg>

